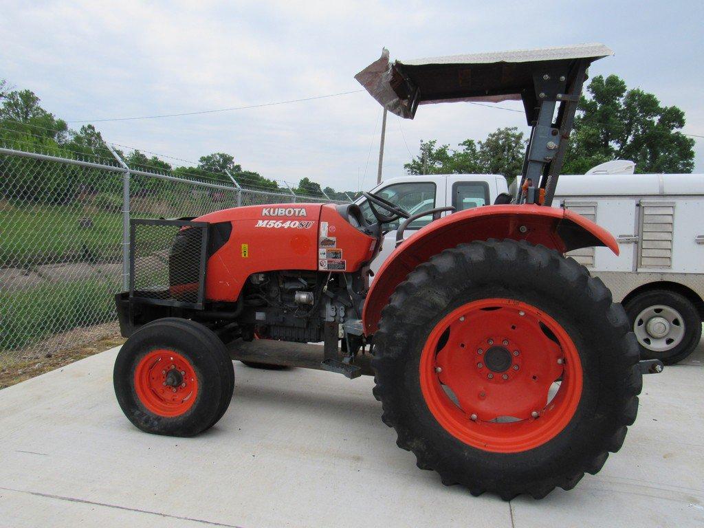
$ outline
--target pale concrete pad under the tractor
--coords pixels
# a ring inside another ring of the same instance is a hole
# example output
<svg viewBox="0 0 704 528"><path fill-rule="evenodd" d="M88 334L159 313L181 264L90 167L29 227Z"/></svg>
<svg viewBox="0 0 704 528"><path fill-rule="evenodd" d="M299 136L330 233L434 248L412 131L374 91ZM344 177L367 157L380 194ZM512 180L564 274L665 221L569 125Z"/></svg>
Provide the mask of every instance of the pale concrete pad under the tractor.
<svg viewBox="0 0 704 528"><path fill-rule="evenodd" d="M0 525L701 526L704 346L648 376L620 453L543 501L474 498L396 447L372 379L235 363L225 417L144 434L112 389L117 350L0 391ZM698 362L698 363L697 363Z"/></svg>

